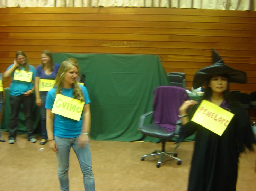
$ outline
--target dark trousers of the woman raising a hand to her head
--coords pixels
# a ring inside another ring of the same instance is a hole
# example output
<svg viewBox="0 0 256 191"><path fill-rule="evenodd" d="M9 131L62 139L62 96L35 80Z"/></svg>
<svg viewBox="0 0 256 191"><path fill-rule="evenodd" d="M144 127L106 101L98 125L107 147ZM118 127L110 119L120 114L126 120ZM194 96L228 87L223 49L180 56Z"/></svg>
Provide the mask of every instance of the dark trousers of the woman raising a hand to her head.
<svg viewBox="0 0 256 191"><path fill-rule="evenodd" d="M10 95L10 102L11 102L11 118L10 118L10 125L9 125L9 139L16 139L17 129L18 129L18 115L20 111L21 104L23 104L23 110L25 115L25 125L27 128L27 138L28 140L34 138L33 134L33 121L32 121L32 104L33 104L33 95L30 94L29 96L11 96Z"/></svg>

